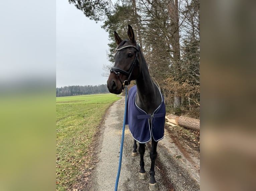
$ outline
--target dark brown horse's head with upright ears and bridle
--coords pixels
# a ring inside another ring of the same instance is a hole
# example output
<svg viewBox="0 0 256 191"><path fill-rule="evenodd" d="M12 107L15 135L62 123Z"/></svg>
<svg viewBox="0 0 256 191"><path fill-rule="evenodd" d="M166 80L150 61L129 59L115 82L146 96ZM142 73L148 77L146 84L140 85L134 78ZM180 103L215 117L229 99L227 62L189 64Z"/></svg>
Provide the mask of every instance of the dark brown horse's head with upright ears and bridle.
<svg viewBox="0 0 256 191"><path fill-rule="evenodd" d="M115 33L115 40L118 45L114 56L115 65L110 70L107 87L110 93L120 94L125 85L131 80L136 80L141 73L139 66L140 48L134 39L133 29L128 25L129 40L122 40Z"/></svg>

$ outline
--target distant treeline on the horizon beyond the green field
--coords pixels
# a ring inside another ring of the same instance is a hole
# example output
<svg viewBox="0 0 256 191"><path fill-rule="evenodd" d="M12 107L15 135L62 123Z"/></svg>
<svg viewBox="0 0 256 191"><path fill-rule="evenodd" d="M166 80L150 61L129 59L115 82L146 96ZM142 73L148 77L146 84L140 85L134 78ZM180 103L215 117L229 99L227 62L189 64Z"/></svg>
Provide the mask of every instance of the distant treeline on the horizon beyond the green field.
<svg viewBox="0 0 256 191"><path fill-rule="evenodd" d="M109 93L106 84L98 86L65 86L63 88L56 88L56 97L105 93Z"/></svg>

